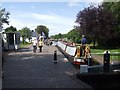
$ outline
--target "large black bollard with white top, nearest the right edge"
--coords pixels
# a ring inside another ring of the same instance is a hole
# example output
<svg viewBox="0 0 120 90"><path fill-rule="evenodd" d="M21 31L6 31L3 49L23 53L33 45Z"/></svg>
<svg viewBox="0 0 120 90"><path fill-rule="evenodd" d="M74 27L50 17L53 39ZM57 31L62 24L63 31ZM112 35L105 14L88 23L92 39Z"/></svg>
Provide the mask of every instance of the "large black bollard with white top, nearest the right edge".
<svg viewBox="0 0 120 90"><path fill-rule="evenodd" d="M110 53L106 51L104 53L103 72L109 72L109 68L110 68Z"/></svg>

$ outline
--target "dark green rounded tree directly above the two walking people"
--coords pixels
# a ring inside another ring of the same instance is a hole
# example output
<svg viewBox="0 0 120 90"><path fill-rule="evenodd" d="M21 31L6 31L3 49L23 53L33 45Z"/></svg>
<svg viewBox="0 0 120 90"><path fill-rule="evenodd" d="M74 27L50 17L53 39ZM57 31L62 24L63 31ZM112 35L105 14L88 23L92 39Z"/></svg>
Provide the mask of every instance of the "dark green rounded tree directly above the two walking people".
<svg viewBox="0 0 120 90"><path fill-rule="evenodd" d="M35 31L40 34L42 36L42 32L45 34L46 38L49 35L49 29L46 26L43 25L39 25L37 26L37 28L35 29Z"/></svg>

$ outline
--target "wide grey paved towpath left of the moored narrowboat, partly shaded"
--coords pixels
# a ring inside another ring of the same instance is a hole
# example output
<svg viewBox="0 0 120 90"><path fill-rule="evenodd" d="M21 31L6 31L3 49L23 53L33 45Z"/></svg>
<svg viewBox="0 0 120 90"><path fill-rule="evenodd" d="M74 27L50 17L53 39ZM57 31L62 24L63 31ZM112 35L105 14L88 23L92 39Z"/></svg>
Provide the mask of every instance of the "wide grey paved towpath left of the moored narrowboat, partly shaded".
<svg viewBox="0 0 120 90"><path fill-rule="evenodd" d="M58 63L53 63L54 46L44 46L43 52L32 47L8 53L4 61L3 88L86 88L82 81L70 76L77 71L60 51Z"/></svg>

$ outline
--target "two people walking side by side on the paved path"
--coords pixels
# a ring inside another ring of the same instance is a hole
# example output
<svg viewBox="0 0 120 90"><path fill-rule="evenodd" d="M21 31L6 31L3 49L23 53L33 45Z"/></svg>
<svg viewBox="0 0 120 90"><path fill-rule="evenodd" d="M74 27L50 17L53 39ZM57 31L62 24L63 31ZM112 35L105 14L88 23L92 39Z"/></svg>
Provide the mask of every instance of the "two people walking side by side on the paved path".
<svg viewBox="0 0 120 90"><path fill-rule="evenodd" d="M43 47L43 38L40 39L34 39L32 41L33 45L33 52L35 53L37 50L37 47L39 48L39 52L42 52L42 47Z"/></svg>

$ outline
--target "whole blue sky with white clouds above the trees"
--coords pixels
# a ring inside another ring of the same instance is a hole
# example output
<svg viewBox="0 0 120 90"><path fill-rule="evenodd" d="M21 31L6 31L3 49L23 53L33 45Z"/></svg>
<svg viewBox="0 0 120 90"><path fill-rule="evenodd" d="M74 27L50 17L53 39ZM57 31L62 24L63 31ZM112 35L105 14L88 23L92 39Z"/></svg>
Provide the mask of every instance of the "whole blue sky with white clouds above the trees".
<svg viewBox="0 0 120 90"><path fill-rule="evenodd" d="M23 1L23 0L22 0ZM1 3L2 8L10 12L9 25L3 27L16 27L17 30L28 27L35 30L38 25L44 25L49 29L49 36L55 34L66 34L73 29L76 15L80 10L88 7L90 4L99 2L38 2L34 0L28 2L5 1Z"/></svg>

